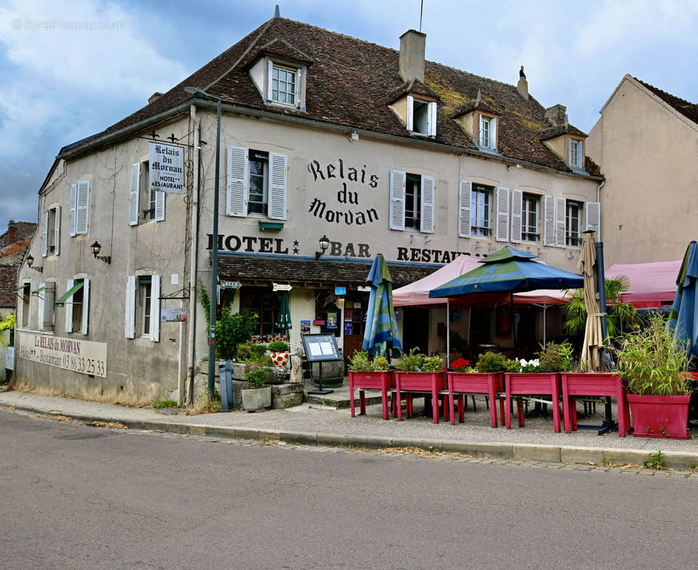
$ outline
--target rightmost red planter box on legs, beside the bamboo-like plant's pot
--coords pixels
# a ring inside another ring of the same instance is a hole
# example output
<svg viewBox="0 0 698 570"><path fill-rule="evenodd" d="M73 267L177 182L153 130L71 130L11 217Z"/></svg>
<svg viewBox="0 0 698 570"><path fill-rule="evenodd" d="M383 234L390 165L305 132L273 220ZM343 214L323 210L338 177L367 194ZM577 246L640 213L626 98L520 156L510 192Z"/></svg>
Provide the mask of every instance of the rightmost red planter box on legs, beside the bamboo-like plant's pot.
<svg viewBox="0 0 698 570"><path fill-rule="evenodd" d="M613 396L617 400L618 435L630 431L627 385L612 372L561 372L562 410L565 433L577 430L577 400L575 396Z"/></svg>

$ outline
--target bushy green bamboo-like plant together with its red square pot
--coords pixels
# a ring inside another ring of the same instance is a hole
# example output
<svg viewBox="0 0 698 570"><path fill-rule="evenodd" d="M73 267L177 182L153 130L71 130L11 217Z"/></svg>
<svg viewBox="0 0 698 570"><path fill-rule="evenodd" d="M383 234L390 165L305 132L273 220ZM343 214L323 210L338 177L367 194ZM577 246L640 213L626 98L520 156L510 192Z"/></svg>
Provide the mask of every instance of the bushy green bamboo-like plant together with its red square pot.
<svg viewBox="0 0 698 570"><path fill-rule="evenodd" d="M687 439L689 353L674 340L664 318L653 316L644 330L625 336L617 353L619 372L629 390L633 435Z"/></svg>

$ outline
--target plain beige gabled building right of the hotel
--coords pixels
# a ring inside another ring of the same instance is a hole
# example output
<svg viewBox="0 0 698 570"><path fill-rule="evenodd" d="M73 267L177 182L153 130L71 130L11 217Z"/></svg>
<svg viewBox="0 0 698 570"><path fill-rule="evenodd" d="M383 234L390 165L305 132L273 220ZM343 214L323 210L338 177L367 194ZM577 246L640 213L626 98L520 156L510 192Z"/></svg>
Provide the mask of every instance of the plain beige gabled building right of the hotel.
<svg viewBox="0 0 698 570"><path fill-rule="evenodd" d="M600 113L605 265L681 259L698 239L698 105L626 75Z"/></svg>

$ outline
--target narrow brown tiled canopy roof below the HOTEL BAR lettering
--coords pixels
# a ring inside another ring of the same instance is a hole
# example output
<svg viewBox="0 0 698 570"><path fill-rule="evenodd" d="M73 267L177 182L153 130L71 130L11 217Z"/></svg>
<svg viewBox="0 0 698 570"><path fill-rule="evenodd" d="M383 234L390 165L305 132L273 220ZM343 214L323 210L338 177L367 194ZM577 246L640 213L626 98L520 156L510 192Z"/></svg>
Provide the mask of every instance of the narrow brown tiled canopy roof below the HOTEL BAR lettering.
<svg viewBox="0 0 698 570"><path fill-rule="evenodd" d="M393 288L408 285L432 274L437 268L391 264ZM368 263L351 261L313 261L308 259L268 259L263 257L218 257L218 274L223 279L244 283L365 285Z"/></svg>

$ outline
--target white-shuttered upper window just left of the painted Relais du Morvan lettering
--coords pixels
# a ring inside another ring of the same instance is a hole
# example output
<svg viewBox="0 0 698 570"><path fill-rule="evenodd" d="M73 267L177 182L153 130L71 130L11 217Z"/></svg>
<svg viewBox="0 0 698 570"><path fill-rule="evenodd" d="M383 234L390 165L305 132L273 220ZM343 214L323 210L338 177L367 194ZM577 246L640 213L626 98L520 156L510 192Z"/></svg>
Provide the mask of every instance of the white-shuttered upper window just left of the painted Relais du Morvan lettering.
<svg viewBox="0 0 698 570"><path fill-rule="evenodd" d="M286 219L288 156L279 152L228 147L226 214L262 214ZM320 175L324 175L320 171Z"/></svg>

